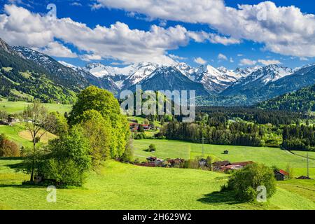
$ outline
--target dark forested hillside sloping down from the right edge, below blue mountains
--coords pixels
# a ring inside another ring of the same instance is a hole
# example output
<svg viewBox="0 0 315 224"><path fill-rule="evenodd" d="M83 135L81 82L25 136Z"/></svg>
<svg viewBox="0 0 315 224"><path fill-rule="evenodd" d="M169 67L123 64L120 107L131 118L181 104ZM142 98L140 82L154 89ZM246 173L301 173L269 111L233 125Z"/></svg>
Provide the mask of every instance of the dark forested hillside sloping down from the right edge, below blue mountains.
<svg viewBox="0 0 315 224"><path fill-rule="evenodd" d="M315 85L262 102L258 104L258 108L295 112L315 111Z"/></svg>

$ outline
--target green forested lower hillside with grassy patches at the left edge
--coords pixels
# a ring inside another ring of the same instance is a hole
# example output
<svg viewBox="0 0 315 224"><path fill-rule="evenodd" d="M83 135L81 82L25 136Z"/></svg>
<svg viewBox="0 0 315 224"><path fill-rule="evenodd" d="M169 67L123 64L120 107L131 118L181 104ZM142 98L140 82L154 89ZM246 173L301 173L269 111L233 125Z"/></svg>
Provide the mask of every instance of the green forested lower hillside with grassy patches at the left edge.
<svg viewBox="0 0 315 224"><path fill-rule="evenodd" d="M0 96L10 100L36 98L42 102L71 104L79 87L63 85L63 80L56 81L56 76L47 69L26 59L0 39Z"/></svg>

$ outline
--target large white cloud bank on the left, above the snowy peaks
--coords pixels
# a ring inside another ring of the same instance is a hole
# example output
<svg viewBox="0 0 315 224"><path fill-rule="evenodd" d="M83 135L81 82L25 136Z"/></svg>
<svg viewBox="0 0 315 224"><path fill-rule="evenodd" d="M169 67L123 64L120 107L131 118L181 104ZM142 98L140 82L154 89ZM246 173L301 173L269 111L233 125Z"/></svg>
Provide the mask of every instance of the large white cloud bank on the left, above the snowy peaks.
<svg viewBox="0 0 315 224"><path fill-rule="evenodd" d="M0 35L10 45L26 45L52 56L75 57L71 50L62 45L70 43L83 52L80 58L85 61L116 59L133 63L150 59L160 64L174 64L174 57L167 55L167 50L188 45L200 36L200 32L194 35L193 31L180 25L168 28L153 25L150 30L143 31L116 22L110 27L97 25L90 28L71 18L51 20L15 5L5 5L4 12L0 15ZM205 32L202 35L211 38ZM217 42L221 39L222 43L229 42L224 37L218 38Z"/></svg>

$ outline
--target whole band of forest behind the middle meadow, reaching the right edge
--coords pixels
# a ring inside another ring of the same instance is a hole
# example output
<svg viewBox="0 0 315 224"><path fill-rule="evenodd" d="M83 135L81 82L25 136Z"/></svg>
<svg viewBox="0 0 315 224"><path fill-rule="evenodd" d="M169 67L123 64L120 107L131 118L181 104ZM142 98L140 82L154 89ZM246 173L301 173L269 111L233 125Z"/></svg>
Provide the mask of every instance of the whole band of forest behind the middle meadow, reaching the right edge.
<svg viewBox="0 0 315 224"><path fill-rule="evenodd" d="M194 123L158 117L165 123L157 138L235 146L270 146L314 151L314 116L254 108L198 107ZM148 117L152 120L153 117ZM301 125L304 123L304 125ZM202 140L203 139L203 140Z"/></svg>

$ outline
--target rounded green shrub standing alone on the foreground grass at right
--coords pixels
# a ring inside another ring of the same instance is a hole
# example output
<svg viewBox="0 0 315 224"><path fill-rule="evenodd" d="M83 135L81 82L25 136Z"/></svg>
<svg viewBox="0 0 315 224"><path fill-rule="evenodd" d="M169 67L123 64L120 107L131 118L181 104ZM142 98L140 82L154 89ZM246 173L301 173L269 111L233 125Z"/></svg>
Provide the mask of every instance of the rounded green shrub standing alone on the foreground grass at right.
<svg viewBox="0 0 315 224"><path fill-rule="evenodd" d="M265 186L267 198L276 192L274 172L261 164L252 164L233 173L228 181L228 189L235 193L238 200L254 202L258 195L258 186Z"/></svg>

